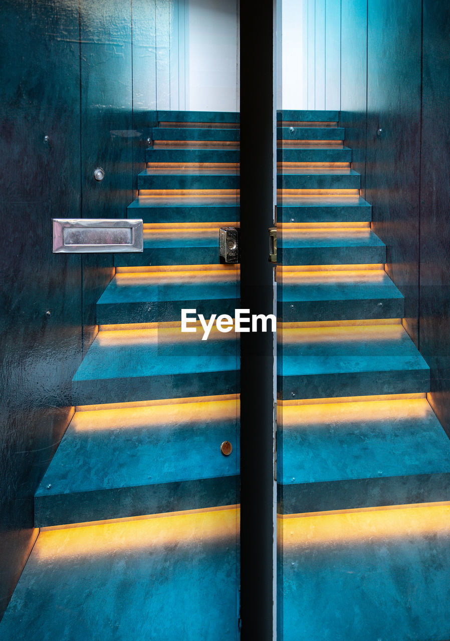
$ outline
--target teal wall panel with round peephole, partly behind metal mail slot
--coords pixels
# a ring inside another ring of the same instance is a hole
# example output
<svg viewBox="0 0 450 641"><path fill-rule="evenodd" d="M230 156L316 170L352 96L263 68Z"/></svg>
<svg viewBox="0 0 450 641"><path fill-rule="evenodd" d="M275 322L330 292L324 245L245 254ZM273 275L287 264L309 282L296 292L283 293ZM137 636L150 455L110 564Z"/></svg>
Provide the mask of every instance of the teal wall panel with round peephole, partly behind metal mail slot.
<svg viewBox="0 0 450 641"><path fill-rule="evenodd" d="M81 0L83 218L126 218L133 200L131 0ZM105 177L97 182L96 167ZM96 303L113 276L113 254L83 256L84 347L96 333Z"/></svg>

